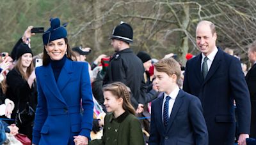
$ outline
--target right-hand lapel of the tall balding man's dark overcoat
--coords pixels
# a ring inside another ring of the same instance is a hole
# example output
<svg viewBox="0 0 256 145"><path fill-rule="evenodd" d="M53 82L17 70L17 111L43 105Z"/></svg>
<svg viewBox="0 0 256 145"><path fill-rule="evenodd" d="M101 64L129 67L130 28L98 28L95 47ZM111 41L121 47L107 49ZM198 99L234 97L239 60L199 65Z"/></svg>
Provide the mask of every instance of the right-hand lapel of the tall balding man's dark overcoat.
<svg viewBox="0 0 256 145"><path fill-rule="evenodd" d="M218 52L216 53L213 59L209 72L207 73L206 78L204 79L204 83L207 82L211 78L211 76L214 74L214 72L216 72L216 70L220 67L222 55L223 55L223 51L220 48L218 48Z"/></svg>

